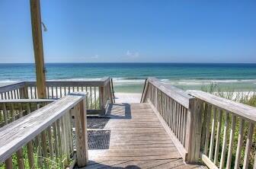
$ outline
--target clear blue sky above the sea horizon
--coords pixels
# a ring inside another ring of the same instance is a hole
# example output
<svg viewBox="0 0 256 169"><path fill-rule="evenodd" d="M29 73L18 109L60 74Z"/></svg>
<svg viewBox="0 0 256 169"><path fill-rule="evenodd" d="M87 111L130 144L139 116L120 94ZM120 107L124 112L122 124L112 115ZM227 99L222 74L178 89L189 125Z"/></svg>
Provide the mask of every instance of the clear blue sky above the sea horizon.
<svg viewBox="0 0 256 169"><path fill-rule="evenodd" d="M256 1L41 0L46 62L256 62ZM0 62L34 62L29 0L0 1Z"/></svg>

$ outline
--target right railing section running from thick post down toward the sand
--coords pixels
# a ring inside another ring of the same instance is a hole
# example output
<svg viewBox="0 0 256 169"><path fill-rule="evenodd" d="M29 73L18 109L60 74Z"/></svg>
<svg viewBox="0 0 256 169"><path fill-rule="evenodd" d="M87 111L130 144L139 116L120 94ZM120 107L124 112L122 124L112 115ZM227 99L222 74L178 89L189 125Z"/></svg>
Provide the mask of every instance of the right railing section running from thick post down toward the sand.
<svg viewBox="0 0 256 169"><path fill-rule="evenodd" d="M148 78L141 102L149 102L164 120L167 132L182 158L198 161L196 154L196 129L194 128L194 97L171 85L163 85L156 78Z"/></svg>

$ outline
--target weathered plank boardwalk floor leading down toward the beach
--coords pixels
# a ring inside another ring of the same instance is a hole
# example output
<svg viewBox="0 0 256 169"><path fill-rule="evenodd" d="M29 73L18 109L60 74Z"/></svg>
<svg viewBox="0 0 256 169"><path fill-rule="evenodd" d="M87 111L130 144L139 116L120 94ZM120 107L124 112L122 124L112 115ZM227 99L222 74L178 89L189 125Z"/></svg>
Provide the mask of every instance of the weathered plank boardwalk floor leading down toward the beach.
<svg viewBox="0 0 256 169"><path fill-rule="evenodd" d="M109 140L100 143L101 147L107 144L104 149L88 151L86 169L201 168L184 164L149 104L110 104L106 119L101 120L94 124L98 129L88 129L88 132L105 131L108 135L105 139ZM90 125L88 128L91 128Z"/></svg>

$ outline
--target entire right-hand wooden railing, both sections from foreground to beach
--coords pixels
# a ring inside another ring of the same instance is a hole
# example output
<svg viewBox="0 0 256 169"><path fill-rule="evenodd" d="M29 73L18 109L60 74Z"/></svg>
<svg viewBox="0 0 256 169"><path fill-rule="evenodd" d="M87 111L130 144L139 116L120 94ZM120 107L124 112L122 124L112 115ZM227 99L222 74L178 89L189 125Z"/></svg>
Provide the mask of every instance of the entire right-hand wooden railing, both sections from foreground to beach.
<svg viewBox="0 0 256 169"><path fill-rule="evenodd" d="M185 161L210 168L256 168L256 108L148 78L149 102ZM252 146L254 145L254 146Z"/></svg>

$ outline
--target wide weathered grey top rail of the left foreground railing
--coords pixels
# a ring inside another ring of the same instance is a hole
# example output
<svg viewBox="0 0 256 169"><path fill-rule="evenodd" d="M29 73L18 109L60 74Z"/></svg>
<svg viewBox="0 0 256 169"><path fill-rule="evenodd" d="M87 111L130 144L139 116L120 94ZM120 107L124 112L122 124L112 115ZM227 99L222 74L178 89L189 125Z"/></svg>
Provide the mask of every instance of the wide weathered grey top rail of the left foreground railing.
<svg viewBox="0 0 256 169"><path fill-rule="evenodd" d="M83 93L70 94L0 128L0 161L5 161L83 99Z"/></svg>

